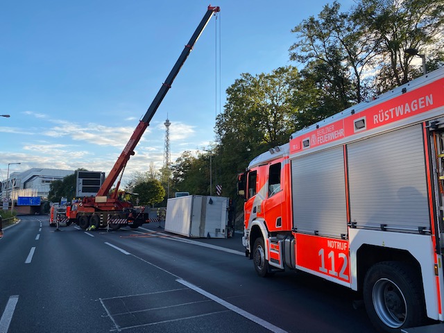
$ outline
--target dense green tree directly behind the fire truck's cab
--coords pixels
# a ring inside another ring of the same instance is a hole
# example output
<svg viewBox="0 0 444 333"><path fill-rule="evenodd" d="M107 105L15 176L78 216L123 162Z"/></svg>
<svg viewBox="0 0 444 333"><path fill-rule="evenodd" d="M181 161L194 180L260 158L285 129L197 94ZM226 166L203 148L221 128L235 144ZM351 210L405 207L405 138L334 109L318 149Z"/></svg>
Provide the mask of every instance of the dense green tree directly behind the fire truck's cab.
<svg viewBox="0 0 444 333"><path fill-rule="evenodd" d="M279 67L269 74L241 74L228 87L227 103L216 118L217 144L212 148L213 179L222 185L223 196L235 196L237 173L253 157L288 142L297 126L292 103L298 78L296 67ZM206 154L206 163L209 157ZM204 165L202 170L208 170Z"/></svg>

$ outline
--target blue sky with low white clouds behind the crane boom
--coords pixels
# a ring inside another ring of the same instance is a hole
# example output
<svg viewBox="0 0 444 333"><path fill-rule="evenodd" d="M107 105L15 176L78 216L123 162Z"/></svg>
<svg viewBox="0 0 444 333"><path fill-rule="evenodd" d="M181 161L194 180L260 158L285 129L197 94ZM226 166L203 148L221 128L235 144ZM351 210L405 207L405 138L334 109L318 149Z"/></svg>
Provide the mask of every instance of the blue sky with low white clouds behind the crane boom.
<svg viewBox="0 0 444 333"><path fill-rule="evenodd" d="M343 10L352 5L352 0L340 2ZM317 15L325 3L211 3L221 12L196 42L126 176L146 171L151 162L162 167L167 115L172 162L185 150L208 148L225 89L241 73L298 65L289 61L295 41L291 28ZM12 162L21 164L11 166L10 173L42 167L108 174L209 4L3 1L0 114L11 117L0 117L0 179Z"/></svg>

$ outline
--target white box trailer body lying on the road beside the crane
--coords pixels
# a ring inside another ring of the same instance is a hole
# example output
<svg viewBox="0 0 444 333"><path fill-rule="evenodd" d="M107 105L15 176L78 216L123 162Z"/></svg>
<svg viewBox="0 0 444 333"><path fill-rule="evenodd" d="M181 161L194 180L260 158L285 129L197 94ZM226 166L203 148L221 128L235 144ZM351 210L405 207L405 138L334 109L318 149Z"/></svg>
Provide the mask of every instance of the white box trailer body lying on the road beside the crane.
<svg viewBox="0 0 444 333"><path fill-rule="evenodd" d="M191 238L227 238L228 198L181 196L167 203L165 231Z"/></svg>

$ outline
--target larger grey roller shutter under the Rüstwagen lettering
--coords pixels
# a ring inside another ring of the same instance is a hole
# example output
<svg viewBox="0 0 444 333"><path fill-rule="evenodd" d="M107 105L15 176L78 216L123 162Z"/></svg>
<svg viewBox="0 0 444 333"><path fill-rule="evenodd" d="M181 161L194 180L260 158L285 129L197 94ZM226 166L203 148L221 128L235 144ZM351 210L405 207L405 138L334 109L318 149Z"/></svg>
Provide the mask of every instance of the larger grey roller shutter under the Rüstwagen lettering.
<svg viewBox="0 0 444 333"><path fill-rule="evenodd" d="M347 150L350 214L357 228L429 227L422 126L354 142Z"/></svg>

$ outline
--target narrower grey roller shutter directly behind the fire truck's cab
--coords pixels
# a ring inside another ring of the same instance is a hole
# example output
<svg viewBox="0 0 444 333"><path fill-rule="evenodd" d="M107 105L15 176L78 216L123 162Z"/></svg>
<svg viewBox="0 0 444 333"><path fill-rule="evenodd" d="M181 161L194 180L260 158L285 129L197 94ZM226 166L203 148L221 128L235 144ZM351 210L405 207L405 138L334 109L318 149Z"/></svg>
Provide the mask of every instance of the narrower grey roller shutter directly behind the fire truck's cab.
<svg viewBox="0 0 444 333"><path fill-rule="evenodd" d="M343 147L291 160L293 228L341 238L347 234Z"/></svg>

